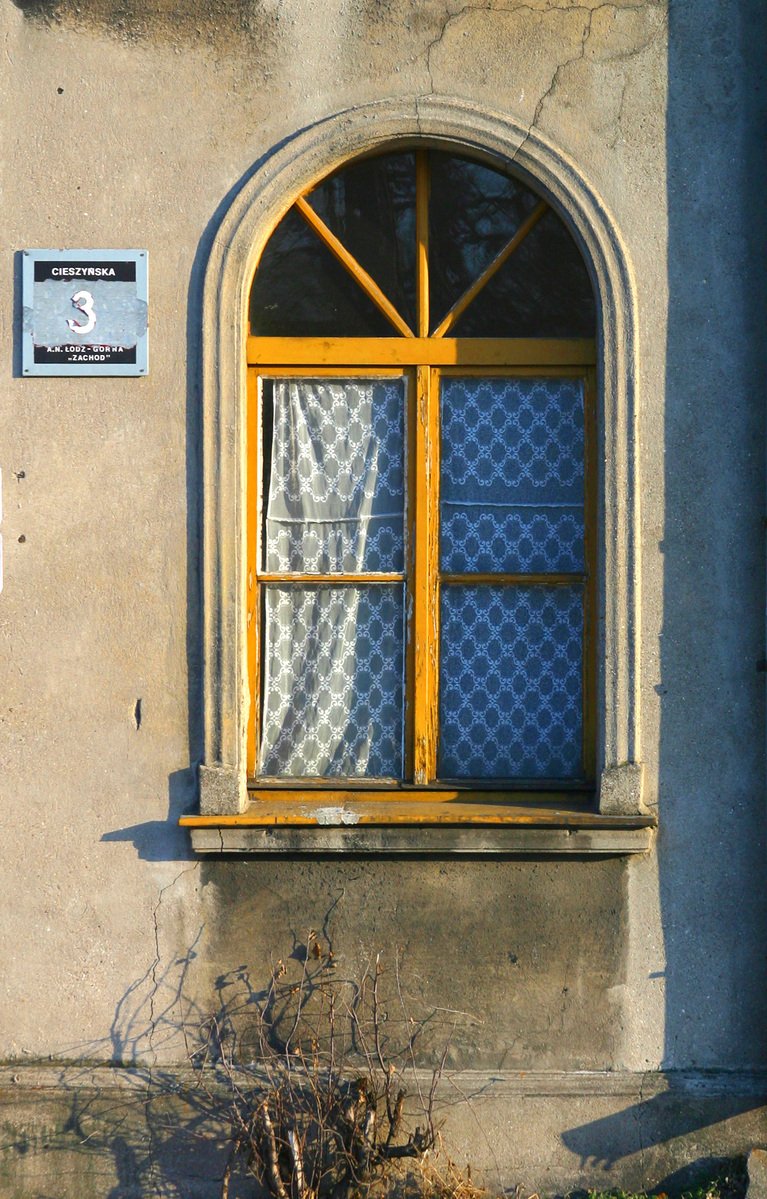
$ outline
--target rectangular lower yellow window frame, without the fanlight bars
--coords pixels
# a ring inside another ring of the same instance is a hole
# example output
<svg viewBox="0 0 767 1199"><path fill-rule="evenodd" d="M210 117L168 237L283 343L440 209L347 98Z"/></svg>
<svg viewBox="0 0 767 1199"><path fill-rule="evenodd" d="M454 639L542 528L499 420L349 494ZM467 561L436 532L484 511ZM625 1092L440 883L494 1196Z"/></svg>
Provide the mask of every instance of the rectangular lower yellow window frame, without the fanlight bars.
<svg viewBox="0 0 767 1199"><path fill-rule="evenodd" d="M384 344L379 344L379 343ZM596 656L597 656L597 422L594 403L594 342L591 339L552 341L531 345L527 341L495 338L483 343L478 339L453 339L445 345L439 341L445 362L434 366L436 338L419 339L421 359L412 362L411 342L404 338L337 338L322 342L322 362L298 362L307 353L302 338L248 339L248 677L250 694L250 719L248 722L248 790L254 803L264 806L298 805L297 813L306 814L308 797L314 802L428 802L435 819L453 819L454 809L439 807L473 803L476 819L481 819L481 805L495 806L502 802L530 802L531 795L545 802L568 801L586 807L593 797L596 776ZM362 344L361 344L362 343ZM397 350L407 345L410 353L403 355L406 363L394 363ZM316 347L309 345L309 354ZM549 353L546 353L546 350ZM364 366L361 361L364 357ZM532 359L537 361L531 361ZM569 363L567 360L570 360ZM354 360L354 361L350 361ZM500 362L503 362L501 366ZM457 364L460 363L460 364ZM336 573L324 576L272 574L260 568L260 541L262 528L261 510L261 459L260 446L260 388L259 380L273 378L385 378L405 376L407 452L407 570L401 573L372 576L364 573ZM442 378L449 375L477 375L482 378L570 378L582 380L585 424L585 546L584 571L574 574L531 572L495 576L472 572L454 576L442 572L439 565L439 486L440 486L440 417L439 390ZM412 536L410 536L412 531ZM260 682L260 589L265 584L279 582L354 584L363 582L405 582L407 609L412 613L407 622L405 650L407 655L405 688L405 782L388 779L262 779L256 776L258 722L261 711ZM460 582L499 583L502 585L581 584L584 586L584 634L582 634L582 752L584 773L579 779L538 782L519 781L499 785L497 782L466 779L460 782L437 778L436 755L439 739L439 592L441 586ZM392 819L401 818L401 808L392 807ZM290 823L288 808L283 812ZM300 819L297 817L296 819Z"/></svg>

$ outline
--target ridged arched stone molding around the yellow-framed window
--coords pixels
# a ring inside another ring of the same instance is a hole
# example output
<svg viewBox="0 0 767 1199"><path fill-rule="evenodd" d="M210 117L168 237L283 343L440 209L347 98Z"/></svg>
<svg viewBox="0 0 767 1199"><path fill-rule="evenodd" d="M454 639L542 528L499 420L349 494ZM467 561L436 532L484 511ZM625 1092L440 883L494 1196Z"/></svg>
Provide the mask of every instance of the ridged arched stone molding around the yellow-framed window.
<svg viewBox="0 0 767 1199"><path fill-rule="evenodd" d="M636 319L626 251L599 195L574 163L512 118L441 98L388 100L339 113L279 146L243 185L215 239L203 300L204 814L244 809L246 337L261 251L295 198L378 147L422 139L527 176L569 223L602 313L600 807L641 808L639 765L639 493Z"/></svg>

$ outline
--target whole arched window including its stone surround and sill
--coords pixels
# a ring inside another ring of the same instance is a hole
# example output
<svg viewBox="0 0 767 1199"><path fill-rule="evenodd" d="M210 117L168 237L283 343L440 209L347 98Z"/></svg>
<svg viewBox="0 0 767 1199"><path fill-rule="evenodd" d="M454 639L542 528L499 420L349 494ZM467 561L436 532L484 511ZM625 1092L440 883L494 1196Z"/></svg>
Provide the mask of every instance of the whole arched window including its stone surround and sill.
<svg viewBox="0 0 767 1199"><path fill-rule="evenodd" d="M648 848L632 273L567 156L440 97L289 138L201 432L197 850Z"/></svg>

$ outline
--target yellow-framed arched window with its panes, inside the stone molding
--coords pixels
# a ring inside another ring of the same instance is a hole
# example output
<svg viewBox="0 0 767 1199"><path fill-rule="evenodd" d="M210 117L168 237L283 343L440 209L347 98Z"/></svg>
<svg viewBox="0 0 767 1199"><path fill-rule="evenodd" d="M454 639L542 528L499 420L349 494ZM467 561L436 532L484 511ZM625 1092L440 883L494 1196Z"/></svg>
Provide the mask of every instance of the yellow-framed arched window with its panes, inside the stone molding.
<svg viewBox="0 0 767 1199"><path fill-rule="evenodd" d="M253 795L587 801L596 314L561 217L460 155L363 157L249 311Z"/></svg>

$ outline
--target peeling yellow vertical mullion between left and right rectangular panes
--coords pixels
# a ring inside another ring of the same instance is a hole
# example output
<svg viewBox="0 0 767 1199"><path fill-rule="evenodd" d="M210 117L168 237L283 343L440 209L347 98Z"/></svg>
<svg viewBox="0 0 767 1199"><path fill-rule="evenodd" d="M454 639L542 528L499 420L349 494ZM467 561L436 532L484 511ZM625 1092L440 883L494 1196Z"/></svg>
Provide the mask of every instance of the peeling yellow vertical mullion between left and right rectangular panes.
<svg viewBox="0 0 767 1199"><path fill-rule="evenodd" d="M439 671L439 404L437 374L416 368L416 519L413 568L413 781L436 777Z"/></svg>

